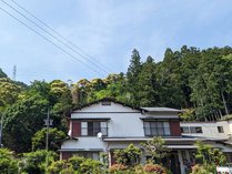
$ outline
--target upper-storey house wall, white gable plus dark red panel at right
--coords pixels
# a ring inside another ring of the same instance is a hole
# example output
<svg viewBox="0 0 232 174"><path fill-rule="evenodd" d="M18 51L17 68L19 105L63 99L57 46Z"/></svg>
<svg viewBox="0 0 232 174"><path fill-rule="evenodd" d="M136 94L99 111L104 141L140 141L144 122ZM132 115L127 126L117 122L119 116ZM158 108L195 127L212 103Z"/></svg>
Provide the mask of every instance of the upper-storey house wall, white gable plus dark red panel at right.
<svg viewBox="0 0 232 174"><path fill-rule="evenodd" d="M145 113L142 114L139 110L133 110L121 104L111 102L111 105L93 104L80 111L72 113L71 119L104 119L110 117L108 123L109 137L142 137L144 136L143 121L141 119L152 116L157 119L178 117L176 113ZM74 125L73 125L74 126ZM174 131L171 135L180 136L179 120L171 123L171 129ZM77 131L79 132L79 131Z"/></svg>

